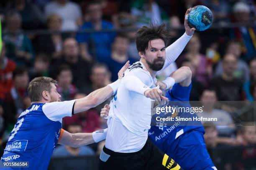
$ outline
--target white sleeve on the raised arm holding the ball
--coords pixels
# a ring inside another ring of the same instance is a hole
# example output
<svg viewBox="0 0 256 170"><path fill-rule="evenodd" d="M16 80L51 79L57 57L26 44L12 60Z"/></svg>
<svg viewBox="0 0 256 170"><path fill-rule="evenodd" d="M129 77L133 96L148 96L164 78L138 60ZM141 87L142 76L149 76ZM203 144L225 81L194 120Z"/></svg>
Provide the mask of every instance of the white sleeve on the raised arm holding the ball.
<svg viewBox="0 0 256 170"><path fill-rule="evenodd" d="M179 57L191 37L192 36L187 35L185 32L178 40L166 48L166 60L164 62L164 67L161 70L164 70L164 68L168 67Z"/></svg>

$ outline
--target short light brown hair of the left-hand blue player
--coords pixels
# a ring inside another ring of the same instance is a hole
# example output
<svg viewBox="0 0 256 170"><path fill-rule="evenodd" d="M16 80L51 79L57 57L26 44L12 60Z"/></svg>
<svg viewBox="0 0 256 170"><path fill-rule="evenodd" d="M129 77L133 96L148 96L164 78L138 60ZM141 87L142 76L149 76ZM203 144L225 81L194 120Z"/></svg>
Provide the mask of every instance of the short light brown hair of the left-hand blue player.
<svg viewBox="0 0 256 170"><path fill-rule="evenodd" d="M28 84L28 96L31 102L38 102L42 98L44 90L51 90L51 83L57 85L57 81L51 77L36 77Z"/></svg>

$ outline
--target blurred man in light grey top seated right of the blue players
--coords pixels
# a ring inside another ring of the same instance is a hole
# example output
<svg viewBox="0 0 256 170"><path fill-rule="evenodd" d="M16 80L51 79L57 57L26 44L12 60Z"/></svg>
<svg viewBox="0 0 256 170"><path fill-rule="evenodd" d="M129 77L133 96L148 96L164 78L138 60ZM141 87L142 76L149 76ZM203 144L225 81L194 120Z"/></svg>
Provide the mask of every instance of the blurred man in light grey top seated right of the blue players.
<svg viewBox="0 0 256 170"><path fill-rule="evenodd" d="M220 135L230 136L234 131L233 126L231 127L230 125L233 125L234 121L225 110L214 108L215 103L218 101L215 90L203 90L200 101L203 106L203 112L197 113L198 117L217 118L218 121L213 122L213 124L216 126L218 133Z"/></svg>

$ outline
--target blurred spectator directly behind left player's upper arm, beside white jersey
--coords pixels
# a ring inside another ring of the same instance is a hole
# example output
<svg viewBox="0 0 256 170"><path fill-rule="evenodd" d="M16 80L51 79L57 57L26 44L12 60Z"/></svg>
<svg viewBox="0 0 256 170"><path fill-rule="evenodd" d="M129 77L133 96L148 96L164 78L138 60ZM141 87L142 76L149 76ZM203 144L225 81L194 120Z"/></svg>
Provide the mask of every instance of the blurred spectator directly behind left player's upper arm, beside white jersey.
<svg viewBox="0 0 256 170"><path fill-rule="evenodd" d="M108 67L105 64L93 65L91 70L90 80L91 80L90 92L97 90L99 88L102 88L105 85L108 85L111 82L110 71L108 70ZM95 110L97 110L97 112L100 114L101 108L103 108L105 104L110 103L111 99L112 97L110 97L108 100L98 105L97 107L95 107Z"/></svg>

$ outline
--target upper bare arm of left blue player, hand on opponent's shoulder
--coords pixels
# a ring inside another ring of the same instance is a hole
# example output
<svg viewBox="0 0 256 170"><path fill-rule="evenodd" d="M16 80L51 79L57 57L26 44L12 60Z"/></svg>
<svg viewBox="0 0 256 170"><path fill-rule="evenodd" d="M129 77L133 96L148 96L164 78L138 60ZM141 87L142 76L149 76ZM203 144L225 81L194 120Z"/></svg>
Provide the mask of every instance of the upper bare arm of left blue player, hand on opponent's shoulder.
<svg viewBox="0 0 256 170"><path fill-rule="evenodd" d="M128 61L118 72L118 80L116 80L115 82L113 82L103 88L100 88L98 90L91 92L86 97L77 99L74 104L74 113L82 112L82 111L88 110L92 107L96 107L100 103L107 100L110 96L114 95L116 93L116 91L118 90L118 86L119 86L120 80L123 76L123 73L129 66L130 66L130 64Z"/></svg>

